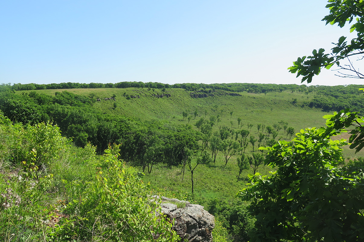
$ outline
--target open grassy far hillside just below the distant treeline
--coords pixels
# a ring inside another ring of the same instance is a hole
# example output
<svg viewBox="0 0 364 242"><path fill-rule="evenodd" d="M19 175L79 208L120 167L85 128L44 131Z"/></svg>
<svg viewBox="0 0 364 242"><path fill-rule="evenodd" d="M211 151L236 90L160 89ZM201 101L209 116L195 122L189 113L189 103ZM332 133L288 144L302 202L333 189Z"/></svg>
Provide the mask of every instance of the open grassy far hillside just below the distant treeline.
<svg viewBox="0 0 364 242"><path fill-rule="evenodd" d="M35 90L35 92L54 95L55 92L68 91L75 94L100 98L100 102L95 102L94 107L102 112L112 115L123 115L140 120L162 119L176 124L182 122L182 112L188 111L189 116L197 110L198 117L211 115L221 115L221 125L230 126L230 112L233 111L231 120L236 123L240 117L245 123L272 123L282 119L289 122L296 130L312 125L323 125L322 116L327 112L318 109L301 108L305 101L310 101L313 94L291 93L291 92L269 92L269 93L247 93L241 92L241 96L216 95L206 98L191 98L191 91L185 89L162 89L148 90L147 88L98 88L98 89L55 89L55 90ZM31 91L21 91L31 92ZM17 92L18 93L18 92ZM124 95L125 93L125 95ZM162 93L170 94L170 97L157 98L153 95ZM231 93L231 92L226 92ZM116 95L116 108L113 109L114 100L104 100L104 98ZM127 96L138 96L140 98L126 98ZM292 100L296 98L296 104ZM217 105L217 106L216 106ZM173 118L175 117L175 118ZM273 119L272 119L273 118ZM193 118L195 120L195 118ZM190 121L193 123L193 121Z"/></svg>

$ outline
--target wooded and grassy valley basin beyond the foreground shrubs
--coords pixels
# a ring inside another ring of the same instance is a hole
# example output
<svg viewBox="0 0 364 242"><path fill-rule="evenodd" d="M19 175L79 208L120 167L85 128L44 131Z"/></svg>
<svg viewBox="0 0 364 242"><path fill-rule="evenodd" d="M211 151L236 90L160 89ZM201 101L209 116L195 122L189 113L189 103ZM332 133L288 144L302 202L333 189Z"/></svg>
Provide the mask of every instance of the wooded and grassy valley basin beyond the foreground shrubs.
<svg viewBox="0 0 364 242"><path fill-rule="evenodd" d="M99 154L109 143L120 144L120 158L145 173L143 181L151 184L154 193L205 206L237 236L249 230L249 222L233 232L221 209L231 214L246 211L235 196L245 187L254 165L239 171L238 160L254 161L253 154L264 155L258 151L260 145L289 141L301 129L323 126L322 117L331 112L309 107L315 95L182 88L21 90L0 92L0 109L24 124L50 120L75 145L86 147L89 141ZM214 151L214 138L220 146L225 142L228 150L234 143L238 146L228 154L222 148ZM211 160L214 152L215 161ZM362 154L344 150L347 160ZM255 168L269 174L262 164ZM245 214L240 219L250 218Z"/></svg>

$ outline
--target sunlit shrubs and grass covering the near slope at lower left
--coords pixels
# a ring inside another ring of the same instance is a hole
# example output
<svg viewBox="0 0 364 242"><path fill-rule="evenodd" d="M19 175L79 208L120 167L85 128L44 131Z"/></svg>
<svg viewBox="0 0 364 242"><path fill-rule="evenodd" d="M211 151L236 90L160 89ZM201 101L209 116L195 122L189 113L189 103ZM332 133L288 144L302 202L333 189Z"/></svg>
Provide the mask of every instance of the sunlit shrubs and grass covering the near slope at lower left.
<svg viewBox="0 0 364 242"><path fill-rule="evenodd" d="M178 241L173 221L160 215L161 201L142 182L143 173L118 160L118 146L96 158L90 143L80 150L64 144L57 126L40 123L24 130L3 116L0 132L7 132L2 138L20 136L24 142L18 149L26 156L18 174L8 173L4 162L0 167L5 181L0 183L0 237L5 241ZM1 147L12 145L11 139L1 139Z"/></svg>

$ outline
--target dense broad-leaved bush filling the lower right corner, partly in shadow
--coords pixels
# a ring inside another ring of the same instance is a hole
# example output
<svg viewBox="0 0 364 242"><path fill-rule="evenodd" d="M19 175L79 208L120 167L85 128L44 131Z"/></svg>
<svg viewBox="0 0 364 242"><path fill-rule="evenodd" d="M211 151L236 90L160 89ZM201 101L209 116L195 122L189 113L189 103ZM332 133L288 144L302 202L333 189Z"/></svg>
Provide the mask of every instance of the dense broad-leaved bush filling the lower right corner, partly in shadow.
<svg viewBox="0 0 364 242"><path fill-rule="evenodd" d="M252 201L256 217L250 241L362 241L363 173L338 167L345 140L333 129L308 128L293 142L279 141L268 151L271 176L252 177L239 194Z"/></svg>

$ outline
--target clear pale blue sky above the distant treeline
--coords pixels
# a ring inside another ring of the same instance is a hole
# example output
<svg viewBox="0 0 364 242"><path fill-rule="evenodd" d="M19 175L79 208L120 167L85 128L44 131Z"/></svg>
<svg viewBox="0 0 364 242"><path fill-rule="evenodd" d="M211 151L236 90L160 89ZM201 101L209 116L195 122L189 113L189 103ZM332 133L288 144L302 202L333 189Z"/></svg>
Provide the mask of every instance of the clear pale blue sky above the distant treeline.
<svg viewBox="0 0 364 242"><path fill-rule="evenodd" d="M326 4L1 1L0 83L300 84L287 70L292 61L349 34L321 21ZM323 70L312 84L363 84L335 73Z"/></svg>

